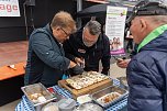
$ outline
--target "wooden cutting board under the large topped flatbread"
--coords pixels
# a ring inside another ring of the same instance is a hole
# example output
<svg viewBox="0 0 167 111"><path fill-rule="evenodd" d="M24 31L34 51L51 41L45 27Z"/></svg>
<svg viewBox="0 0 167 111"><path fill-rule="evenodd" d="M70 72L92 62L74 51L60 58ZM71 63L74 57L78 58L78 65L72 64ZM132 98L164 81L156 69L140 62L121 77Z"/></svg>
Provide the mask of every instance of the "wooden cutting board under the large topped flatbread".
<svg viewBox="0 0 167 111"><path fill-rule="evenodd" d="M102 80L100 82L88 86L86 88L79 89L79 90L73 88L70 85L68 85L66 82L66 80L59 80L58 86L67 89L69 92L71 92L74 99L77 99L77 97L79 97L79 96L88 95L88 93L91 95L98 90L105 88L105 87L112 86L112 80L105 79L105 80Z"/></svg>

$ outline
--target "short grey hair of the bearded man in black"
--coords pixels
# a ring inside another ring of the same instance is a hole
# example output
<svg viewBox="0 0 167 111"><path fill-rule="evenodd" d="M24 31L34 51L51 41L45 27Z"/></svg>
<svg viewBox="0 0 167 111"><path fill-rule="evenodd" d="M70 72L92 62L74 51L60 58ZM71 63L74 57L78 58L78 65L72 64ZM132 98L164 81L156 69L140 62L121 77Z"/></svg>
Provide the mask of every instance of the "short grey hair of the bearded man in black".
<svg viewBox="0 0 167 111"><path fill-rule="evenodd" d="M101 24L98 21L89 21L85 29L88 29L91 35L98 35L101 33Z"/></svg>

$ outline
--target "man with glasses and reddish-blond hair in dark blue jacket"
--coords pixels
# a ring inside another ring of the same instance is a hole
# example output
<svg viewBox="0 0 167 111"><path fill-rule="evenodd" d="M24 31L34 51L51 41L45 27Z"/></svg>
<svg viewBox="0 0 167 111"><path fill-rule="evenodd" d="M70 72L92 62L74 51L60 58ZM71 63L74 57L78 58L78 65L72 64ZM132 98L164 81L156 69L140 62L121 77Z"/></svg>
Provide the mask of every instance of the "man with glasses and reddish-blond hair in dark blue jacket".
<svg viewBox="0 0 167 111"><path fill-rule="evenodd" d="M62 44L75 31L71 15L60 11L55 14L51 24L35 30L29 40L27 63L24 84L42 82L52 87L71 68L76 74L84 69L65 57Z"/></svg>

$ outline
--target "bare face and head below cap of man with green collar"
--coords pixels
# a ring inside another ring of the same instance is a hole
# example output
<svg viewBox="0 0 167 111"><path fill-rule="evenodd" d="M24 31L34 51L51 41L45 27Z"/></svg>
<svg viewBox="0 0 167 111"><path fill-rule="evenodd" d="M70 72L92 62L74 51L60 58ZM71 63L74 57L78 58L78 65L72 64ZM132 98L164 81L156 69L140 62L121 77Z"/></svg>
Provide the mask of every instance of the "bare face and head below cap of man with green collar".
<svg viewBox="0 0 167 111"><path fill-rule="evenodd" d="M135 16L131 22L130 31L134 42L140 44L153 30L167 24L167 15Z"/></svg>

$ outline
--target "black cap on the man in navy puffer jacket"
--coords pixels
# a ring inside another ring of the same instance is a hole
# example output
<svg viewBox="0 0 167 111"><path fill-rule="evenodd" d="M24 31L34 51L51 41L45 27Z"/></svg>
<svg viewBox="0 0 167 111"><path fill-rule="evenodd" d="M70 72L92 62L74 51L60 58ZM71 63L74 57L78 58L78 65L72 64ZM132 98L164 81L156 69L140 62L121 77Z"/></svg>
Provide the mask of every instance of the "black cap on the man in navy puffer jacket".
<svg viewBox="0 0 167 111"><path fill-rule="evenodd" d="M134 7L132 14L126 19L126 23L130 23L136 15L167 15L167 4L160 1L141 1Z"/></svg>

